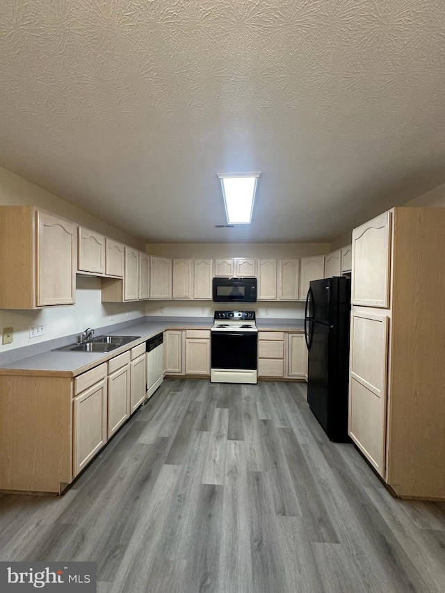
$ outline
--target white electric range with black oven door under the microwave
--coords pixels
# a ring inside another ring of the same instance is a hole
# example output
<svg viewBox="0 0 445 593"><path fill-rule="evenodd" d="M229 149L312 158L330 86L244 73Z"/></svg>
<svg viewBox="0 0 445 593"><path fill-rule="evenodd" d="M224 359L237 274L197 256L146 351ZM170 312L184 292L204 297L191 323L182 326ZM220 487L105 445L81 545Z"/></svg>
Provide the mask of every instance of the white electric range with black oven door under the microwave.
<svg viewBox="0 0 445 593"><path fill-rule="evenodd" d="M256 383L258 328L254 311L215 311L211 327L212 383Z"/></svg>

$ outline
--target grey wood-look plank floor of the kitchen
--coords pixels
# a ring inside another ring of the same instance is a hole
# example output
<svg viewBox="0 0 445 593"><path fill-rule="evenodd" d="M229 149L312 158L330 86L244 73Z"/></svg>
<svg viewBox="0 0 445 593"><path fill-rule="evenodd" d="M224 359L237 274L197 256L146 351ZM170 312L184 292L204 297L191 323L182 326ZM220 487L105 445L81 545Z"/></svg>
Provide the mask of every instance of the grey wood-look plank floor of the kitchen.
<svg viewBox="0 0 445 593"><path fill-rule="evenodd" d="M166 380L64 496L0 496L0 560L92 560L99 593L443 593L445 503L393 498L305 388Z"/></svg>

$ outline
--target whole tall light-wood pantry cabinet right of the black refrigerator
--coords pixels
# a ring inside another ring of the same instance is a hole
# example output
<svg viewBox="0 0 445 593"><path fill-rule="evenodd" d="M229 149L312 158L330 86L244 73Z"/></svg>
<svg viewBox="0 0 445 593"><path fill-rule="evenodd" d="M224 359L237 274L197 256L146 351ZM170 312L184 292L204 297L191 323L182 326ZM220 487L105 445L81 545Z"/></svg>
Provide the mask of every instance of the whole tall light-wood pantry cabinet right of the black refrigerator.
<svg viewBox="0 0 445 593"><path fill-rule="evenodd" d="M353 231L349 434L404 498L445 499L445 208Z"/></svg>

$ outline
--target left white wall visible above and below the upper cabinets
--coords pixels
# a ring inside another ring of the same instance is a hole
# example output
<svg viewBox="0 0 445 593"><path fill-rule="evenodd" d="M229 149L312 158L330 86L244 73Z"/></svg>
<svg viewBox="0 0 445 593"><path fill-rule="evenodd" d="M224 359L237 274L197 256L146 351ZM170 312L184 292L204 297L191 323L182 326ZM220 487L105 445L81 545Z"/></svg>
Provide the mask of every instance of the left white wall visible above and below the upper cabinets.
<svg viewBox="0 0 445 593"><path fill-rule="evenodd" d="M48 210L99 231L106 236L144 250L145 245L135 238L111 227L99 218L83 211L65 200L61 200L22 177L0 168L0 205L29 204ZM2 282L2 279L0 279ZM76 304L73 307L47 307L38 311L0 309L0 330L13 327L13 343L0 343L0 352L22 346L30 346L39 341L82 332L86 327L101 327L135 319L145 315L145 304L122 304L101 302L101 281L95 277L76 277ZM113 311L113 320L111 320ZM127 316L128 311L128 316ZM29 337L29 325L44 325L44 335ZM1 340L0 340L1 341Z"/></svg>

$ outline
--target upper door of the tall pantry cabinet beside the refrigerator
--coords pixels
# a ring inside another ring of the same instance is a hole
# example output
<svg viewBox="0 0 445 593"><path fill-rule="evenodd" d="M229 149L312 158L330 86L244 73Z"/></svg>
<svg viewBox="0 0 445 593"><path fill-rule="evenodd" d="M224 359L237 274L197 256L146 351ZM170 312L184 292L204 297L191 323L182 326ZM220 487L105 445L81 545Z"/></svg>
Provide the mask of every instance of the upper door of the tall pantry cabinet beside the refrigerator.
<svg viewBox="0 0 445 593"><path fill-rule="evenodd" d="M352 304L389 307L391 213L353 230Z"/></svg>

